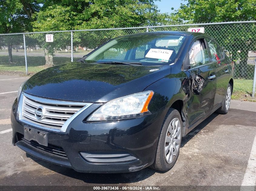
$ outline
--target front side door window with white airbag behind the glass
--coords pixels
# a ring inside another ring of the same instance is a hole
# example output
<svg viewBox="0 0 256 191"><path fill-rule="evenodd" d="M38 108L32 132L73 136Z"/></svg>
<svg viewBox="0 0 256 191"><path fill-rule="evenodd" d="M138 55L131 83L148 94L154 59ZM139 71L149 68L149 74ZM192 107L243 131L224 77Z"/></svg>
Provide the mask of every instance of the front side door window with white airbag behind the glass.
<svg viewBox="0 0 256 191"><path fill-rule="evenodd" d="M189 50L191 68L209 63L209 54L203 39L196 40Z"/></svg>

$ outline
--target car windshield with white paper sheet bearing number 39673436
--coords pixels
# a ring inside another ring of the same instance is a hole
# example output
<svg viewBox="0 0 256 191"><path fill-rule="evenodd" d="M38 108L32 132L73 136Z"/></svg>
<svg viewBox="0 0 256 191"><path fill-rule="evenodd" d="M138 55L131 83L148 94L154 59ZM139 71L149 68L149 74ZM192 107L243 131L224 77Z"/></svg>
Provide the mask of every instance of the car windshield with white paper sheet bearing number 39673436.
<svg viewBox="0 0 256 191"><path fill-rule="evenodd" d="M174 62L185 36L141 34L115 38L89 54L86 63L168 65Z"/></svg>

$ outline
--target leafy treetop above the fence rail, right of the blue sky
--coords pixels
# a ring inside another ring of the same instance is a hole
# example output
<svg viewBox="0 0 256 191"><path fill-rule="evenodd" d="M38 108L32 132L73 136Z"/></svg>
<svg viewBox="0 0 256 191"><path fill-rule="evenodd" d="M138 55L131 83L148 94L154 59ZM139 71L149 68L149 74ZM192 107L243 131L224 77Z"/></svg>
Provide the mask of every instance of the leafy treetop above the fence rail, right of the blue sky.
<svg viewBox="0 0 256 191"><path fill-rule="evenodd" d="M256 18L256 0L188 0L175 14L195 23L250 21Z"/></svg>

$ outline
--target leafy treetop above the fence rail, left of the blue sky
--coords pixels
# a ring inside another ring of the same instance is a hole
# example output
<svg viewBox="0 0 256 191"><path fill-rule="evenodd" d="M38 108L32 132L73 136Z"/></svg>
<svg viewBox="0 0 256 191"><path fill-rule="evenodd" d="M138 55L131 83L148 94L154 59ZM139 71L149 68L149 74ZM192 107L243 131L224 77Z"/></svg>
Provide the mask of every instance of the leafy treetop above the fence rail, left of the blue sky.
<svg viewBox="0 0 256 191"><path fill-rule="evenodd" d="M44 0L34 15L34 31L136 27L161 24L153 0Z"/></svg>

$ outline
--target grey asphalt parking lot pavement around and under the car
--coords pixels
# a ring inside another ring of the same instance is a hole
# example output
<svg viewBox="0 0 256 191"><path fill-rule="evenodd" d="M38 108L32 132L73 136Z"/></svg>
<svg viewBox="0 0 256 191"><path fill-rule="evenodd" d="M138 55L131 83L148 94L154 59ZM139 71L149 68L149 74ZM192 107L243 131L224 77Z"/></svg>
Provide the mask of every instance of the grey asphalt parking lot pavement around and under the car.
<svg viewBox="0 0 256 191"><path fill-rule="evenodd" d="M208 117L182 138L179 158L166 173L150 168L121 174L78 173L12 145L11 106L27 79L0 75L0 186L247 185L256 190L256 103L231 100L228 114Z"/></svg>

